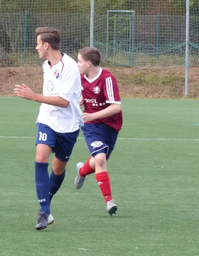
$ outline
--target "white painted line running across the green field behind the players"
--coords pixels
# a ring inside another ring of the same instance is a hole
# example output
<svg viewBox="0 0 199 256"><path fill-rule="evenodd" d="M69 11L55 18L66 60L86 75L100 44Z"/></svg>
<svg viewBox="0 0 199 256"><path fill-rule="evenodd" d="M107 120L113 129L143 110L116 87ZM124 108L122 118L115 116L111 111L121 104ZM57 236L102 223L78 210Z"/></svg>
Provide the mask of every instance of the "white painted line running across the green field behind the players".
<svg viewBox="0 0 199 256"><path fill-rule="evenodd" d="M36 137L32 136L0 136L0 138L8 138L8 139L35 139ZM84 139L83 137L79 137L78 139ZM199 139L175 139L175 138L118 138L118 140L158 140L158 141L199 141Z"/></svg>

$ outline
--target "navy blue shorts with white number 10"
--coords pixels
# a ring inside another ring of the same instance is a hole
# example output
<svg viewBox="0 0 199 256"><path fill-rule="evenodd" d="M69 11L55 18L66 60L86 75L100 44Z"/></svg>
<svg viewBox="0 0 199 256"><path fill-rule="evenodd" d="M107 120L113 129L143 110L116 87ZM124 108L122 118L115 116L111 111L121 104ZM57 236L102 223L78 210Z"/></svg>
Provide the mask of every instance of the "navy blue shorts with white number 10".
<svg viewBox="0 0 199 256"><path fill-rule="evenodd" d="M76 144L79 129L75 132L60 133L48 125L36 123L36 144L45 144L52 147L52 153L63 162L68 162L72 149Z"/></svg>

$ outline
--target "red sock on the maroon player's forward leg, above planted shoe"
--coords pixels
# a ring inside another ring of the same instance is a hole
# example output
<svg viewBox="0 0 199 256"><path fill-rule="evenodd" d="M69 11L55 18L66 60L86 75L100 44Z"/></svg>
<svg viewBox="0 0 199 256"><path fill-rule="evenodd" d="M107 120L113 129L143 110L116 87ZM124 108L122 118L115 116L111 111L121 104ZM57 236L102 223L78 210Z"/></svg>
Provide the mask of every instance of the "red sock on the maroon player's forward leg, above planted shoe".
<svg viewBox="0 0 199 256"><path fill-rule="evenodd" d="M100 172L95 175L95 178L97 180L97 183L102 191L102 195L104 196L104 199L107 203L107 201L112 200L111 195L111 185L109 180L109 175L107 172Z"/></svg>

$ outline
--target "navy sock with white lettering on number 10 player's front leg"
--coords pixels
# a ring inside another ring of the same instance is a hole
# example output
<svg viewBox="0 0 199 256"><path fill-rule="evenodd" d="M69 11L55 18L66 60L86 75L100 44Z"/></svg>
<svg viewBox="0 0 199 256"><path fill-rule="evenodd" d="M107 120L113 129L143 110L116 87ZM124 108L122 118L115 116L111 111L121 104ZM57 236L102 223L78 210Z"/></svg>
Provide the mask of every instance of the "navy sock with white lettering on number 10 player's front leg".
<svg viewBox="0 0 199 256"><path fill-rule="evenodd" d="M48 163L35 162L35 184L38 202L40 203L41 212L50 214L49 188L50 180L48 173Z"/></svg>

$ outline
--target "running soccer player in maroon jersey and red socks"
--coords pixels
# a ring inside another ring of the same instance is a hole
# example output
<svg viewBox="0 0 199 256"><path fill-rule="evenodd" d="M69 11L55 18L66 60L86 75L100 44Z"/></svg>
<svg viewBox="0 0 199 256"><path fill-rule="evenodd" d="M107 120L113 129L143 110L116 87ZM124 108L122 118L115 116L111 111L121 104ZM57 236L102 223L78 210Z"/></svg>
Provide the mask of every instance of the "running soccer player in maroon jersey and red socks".
<svg viewBox="0 0 199 256"><path fill-rule="evenodd" d="M86 163L77 164L75 188L81 189L86 175L95 172L97 183L106 201L107 212L112 215L118 207L111 193L107 160L122 128L118 84L109 71L99 67L101 57L98 49L80 49L77 60L82 84L79 104L81 107L84 106L82 131L92 156Z"/></svg>

